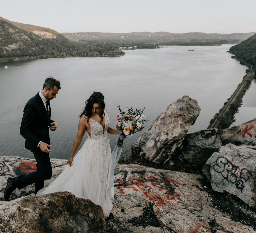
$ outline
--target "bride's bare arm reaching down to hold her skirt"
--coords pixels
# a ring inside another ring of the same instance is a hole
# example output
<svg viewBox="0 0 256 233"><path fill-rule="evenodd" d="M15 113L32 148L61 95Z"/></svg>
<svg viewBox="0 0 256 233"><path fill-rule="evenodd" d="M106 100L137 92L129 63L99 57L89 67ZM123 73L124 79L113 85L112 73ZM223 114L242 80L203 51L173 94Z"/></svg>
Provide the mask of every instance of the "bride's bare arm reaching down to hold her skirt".
<svg viewBox="0 0 256 233"><path fill-rule="evenodd" d="M85 130L86 130L86 126L89 126L88 123L87 123L87 118L82 116L79 119L77 134L76 134L76 137L75 137L75 140L74 140L74 143L73 143L71 155L70 155L70 157L67 161L67 164L69 164L70 166L72 165L74 155L75 155L78 147L81 144L81 141L83 139L83 136L84 136L84 133L85 133Z"/></svg>

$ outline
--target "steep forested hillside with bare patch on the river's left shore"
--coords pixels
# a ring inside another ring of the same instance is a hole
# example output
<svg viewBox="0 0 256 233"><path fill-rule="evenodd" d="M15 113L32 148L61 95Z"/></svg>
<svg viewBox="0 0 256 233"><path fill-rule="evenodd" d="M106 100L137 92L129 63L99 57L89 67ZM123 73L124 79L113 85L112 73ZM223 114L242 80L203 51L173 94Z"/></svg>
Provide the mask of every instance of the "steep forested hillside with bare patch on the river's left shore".
<svg viewBox="0 0 256 233"><path fill-rule="evenodd" d="M98 46L95 43L76 43L48 28L0 18L0 62L50 57L123 55L117 48Z"/></svg>

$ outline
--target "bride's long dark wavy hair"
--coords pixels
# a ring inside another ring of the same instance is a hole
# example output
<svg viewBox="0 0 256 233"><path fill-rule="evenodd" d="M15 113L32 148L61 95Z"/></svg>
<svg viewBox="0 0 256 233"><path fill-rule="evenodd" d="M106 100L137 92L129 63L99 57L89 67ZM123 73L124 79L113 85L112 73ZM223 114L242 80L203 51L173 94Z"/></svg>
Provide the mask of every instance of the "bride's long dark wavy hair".
<svg viewBox="0 0 256 233"><path fill-rule="evenodd" d="M99 104L99 107L100 107L99 116L101 118L101 121L100 121L100 123L101 123L104 119L103 114L104 114L104 109L105 109L105 102L104 102L104 96L100 92L93 92L93 94L90 96L90 98L85 101L84 111L81 113L80 118L83 115L85 115L85 116L87 116L87 122L88 122L88 120L92 116L92 106L94 104Z"/></svg>

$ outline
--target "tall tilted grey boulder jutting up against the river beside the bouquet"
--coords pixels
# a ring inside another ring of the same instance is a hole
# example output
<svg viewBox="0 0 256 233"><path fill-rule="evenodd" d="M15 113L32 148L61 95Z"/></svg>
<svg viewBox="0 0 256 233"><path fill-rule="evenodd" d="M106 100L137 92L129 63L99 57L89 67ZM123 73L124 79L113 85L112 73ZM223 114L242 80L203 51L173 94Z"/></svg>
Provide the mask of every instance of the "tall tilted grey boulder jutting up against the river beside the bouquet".
<svg viewBox="0 0 256 233"><path fill-rule="evenodd" d="M200 113L196 100L183 96L170 104L150 128L139 138L135 147L144 158L155 163L166 163L183 141L189 127Z"/></svg>

